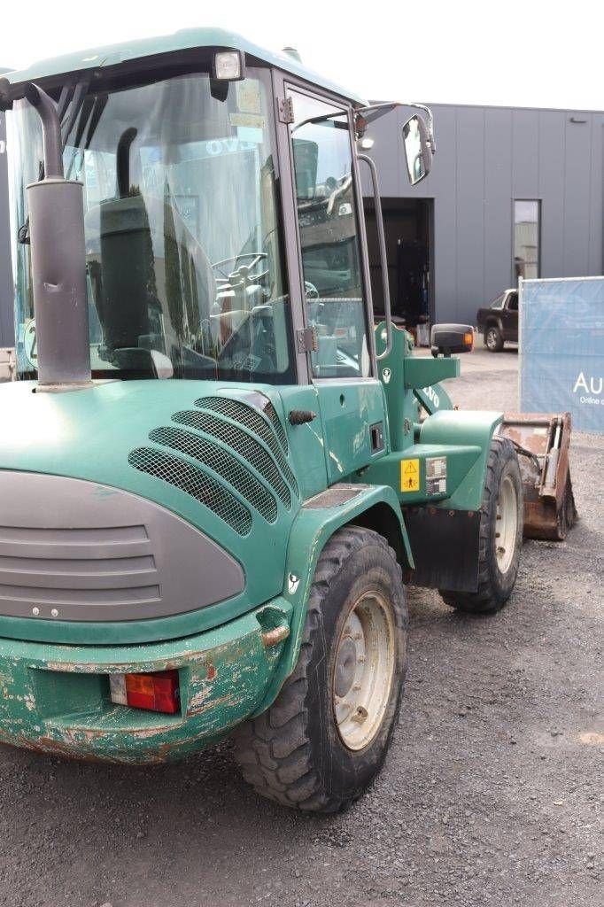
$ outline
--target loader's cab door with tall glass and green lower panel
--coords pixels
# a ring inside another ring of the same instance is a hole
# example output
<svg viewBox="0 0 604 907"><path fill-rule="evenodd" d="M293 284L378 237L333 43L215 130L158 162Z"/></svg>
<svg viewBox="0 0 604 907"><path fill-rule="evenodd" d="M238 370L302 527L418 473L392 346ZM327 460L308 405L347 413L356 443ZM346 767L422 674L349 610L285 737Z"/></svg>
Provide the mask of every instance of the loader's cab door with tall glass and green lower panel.
<svg viewBox="0 0 604 907"><path fill-rule="evenodd" d="M375 377L364 225L345 103L287 87L289 153L310 380L317 389L328 483L385 453Z"/></svg>

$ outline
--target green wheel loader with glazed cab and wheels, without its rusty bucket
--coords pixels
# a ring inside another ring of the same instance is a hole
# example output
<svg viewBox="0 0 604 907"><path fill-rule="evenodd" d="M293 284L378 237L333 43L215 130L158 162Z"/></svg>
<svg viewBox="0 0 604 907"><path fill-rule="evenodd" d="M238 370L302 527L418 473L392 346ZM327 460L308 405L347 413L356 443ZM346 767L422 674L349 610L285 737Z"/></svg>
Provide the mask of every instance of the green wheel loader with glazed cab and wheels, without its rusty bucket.
<svg viewBox="0 0 604 907"><path fill-rule="evenodd" d="M472 329L433 358L387 304L374 329L357 140L384 105L215 30L38 63L0 103L0 740L152 765L232 735L259 793L337 810L395 725L404 584L492 612L521 555L502 414L439 385Z"/></svg>

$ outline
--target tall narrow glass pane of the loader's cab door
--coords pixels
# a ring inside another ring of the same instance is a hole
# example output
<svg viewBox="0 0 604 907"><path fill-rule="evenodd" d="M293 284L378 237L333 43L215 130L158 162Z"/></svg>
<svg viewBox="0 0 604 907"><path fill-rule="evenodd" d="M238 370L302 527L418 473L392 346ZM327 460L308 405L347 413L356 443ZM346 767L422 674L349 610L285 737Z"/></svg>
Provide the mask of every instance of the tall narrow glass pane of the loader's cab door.
<svg viewBox="0 0 604 907"><path fill-rule="evenodd" d="M371 374L353 151L346 112L291 93L297 223L314 377Z"/></svg>

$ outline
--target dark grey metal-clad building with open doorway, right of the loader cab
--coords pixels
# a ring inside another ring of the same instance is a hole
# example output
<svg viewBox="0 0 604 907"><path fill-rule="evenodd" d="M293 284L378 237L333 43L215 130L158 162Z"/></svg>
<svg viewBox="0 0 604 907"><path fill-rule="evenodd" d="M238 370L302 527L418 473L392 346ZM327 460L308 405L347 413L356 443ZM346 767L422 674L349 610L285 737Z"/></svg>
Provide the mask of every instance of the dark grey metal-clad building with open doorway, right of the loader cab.
<svg viewBox="0 0 604 907"><path fill-rule="evenodd" d="M415 187L402 141L413 111L395 109L366 133L399 318L472 324L476 309L519 275L603 273L604 112L431 106L437 153ZM371 211L367 219L375 305L383 307Z"/></svg>

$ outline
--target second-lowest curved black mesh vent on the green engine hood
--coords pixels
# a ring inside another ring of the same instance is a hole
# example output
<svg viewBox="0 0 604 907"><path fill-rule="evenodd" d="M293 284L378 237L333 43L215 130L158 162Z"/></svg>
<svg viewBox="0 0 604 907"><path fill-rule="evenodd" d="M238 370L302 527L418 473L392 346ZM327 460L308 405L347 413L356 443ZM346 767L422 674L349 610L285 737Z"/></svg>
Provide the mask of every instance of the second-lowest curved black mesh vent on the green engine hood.
<svg viewBox="0 0 604 907"><path fill-rule="evenodd" d="M206 463L215 473L219 473L233 485L244 498L262 514L268 522L277 520L277 501L267 488L258 482L245 466L239 463L229 451L218 444L212 444L197 434L185 432L181 428L155 428L149 435L151 441L163 444L181 453L186 453L202 465Z"/></svg>

